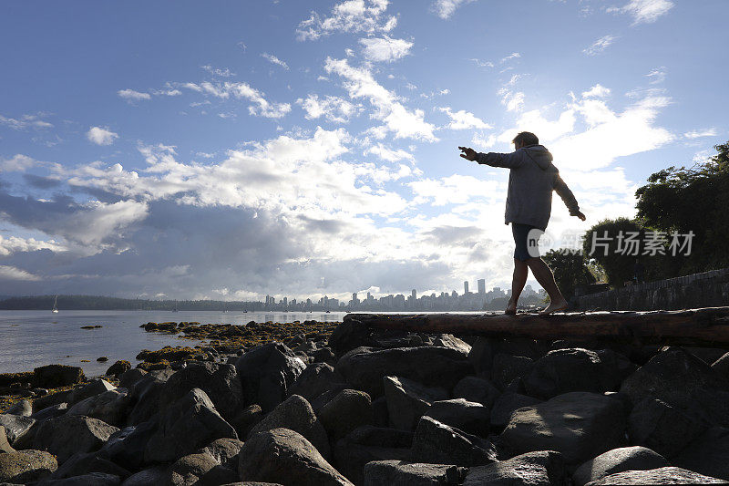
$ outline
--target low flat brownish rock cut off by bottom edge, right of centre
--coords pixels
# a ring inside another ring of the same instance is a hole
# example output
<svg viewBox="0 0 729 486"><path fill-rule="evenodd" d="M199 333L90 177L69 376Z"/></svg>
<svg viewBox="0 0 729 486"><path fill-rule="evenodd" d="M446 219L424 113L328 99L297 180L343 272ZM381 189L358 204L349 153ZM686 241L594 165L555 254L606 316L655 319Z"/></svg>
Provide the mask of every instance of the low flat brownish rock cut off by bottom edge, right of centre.
<svg viewBox="0 0 729 486"><path fill-rule="evenodd" d="M444 464L406 462L405 460L374 460L364 466L364 486L407 484L431 486L458 485L466 468Z"/></svg>

